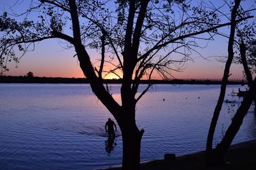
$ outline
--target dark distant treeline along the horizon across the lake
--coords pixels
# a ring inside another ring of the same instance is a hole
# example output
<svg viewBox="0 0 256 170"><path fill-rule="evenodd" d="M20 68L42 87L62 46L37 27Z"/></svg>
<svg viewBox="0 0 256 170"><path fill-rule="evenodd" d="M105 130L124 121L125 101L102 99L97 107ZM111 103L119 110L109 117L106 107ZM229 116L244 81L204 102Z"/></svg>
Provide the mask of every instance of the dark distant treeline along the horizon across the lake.
<svg viewBox="0 0 256 170"><path fill-rule="evenodd" d="M122 79L103 80L104 83L122 83ZM0 76L0 83L88 83L86 78L52 78L52 77L37 77L37 76ZM216 85L221 84L221 80L141 80L141 84L206 84ZM244 80L228 81L230 85L244 85Z"/></svg>

